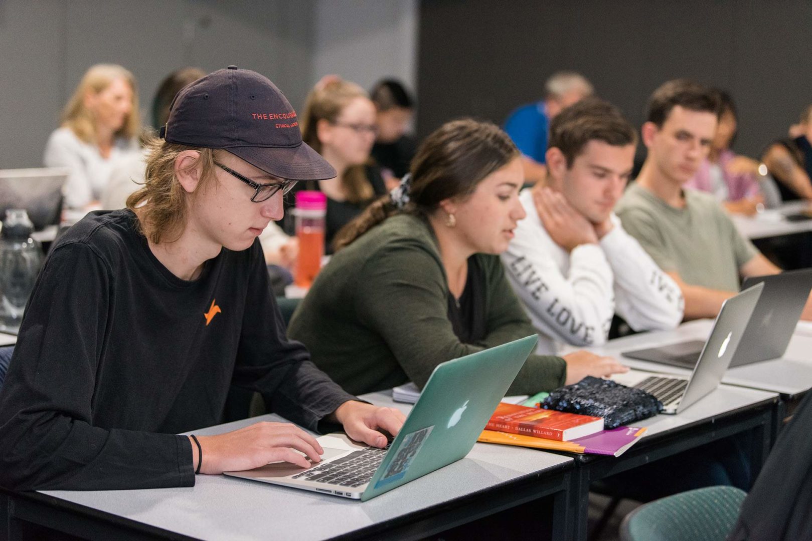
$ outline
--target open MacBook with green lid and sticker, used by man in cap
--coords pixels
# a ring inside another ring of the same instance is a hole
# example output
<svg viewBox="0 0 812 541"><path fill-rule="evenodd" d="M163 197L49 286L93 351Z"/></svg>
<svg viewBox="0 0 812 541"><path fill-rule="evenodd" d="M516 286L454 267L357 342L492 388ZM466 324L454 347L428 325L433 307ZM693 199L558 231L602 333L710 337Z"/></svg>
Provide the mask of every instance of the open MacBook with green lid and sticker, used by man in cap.
<svg viewBox="0 0 812 541"><path fill-rule="evenodd" d="M328 434L317 438L322 462L309 468L274 462L225 474L356 500L400 487L469 453L537 341L533 335L438 365L387 449Z"/></svg>

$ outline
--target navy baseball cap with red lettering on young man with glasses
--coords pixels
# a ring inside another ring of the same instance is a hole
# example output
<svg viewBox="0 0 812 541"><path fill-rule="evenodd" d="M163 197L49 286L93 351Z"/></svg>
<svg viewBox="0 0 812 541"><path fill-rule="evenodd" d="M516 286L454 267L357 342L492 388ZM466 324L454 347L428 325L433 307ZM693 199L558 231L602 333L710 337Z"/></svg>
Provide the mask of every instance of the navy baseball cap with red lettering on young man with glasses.
<svg viewBox="0 0 812 541"><path fill-rule="evenodd" d="M222 148L288 180L325 180L335 169L302 141L299 117L256 71L229 66L185 86L160 135L170 143Z"/></svg>

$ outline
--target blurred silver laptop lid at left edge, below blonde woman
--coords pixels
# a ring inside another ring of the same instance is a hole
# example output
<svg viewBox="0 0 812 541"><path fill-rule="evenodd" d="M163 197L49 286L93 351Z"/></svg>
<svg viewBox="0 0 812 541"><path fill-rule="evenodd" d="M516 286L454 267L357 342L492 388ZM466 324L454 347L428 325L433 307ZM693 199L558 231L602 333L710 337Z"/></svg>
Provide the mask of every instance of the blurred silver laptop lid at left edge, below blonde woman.
<svg viewBox="0 0 812 541"><path fill-rule="evenodd" d="M34 230L59 225L66 180L63 168L0 170L0 220L9 208L24 208Z"/></svg>

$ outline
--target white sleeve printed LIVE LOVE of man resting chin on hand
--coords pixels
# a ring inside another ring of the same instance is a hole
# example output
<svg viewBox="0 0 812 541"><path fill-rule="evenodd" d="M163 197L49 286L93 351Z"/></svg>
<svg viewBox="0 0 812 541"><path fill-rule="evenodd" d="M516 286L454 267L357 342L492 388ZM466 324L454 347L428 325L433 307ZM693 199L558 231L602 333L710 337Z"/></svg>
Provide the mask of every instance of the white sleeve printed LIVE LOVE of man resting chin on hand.
<svg viewBox="0 0 812 541"><path fill-rule="evenodd" d="M538 353L557 353L558 342L602 345L615 312L606 256L596 244L583 244L568 254L542 226L532 194L524 191L521 200L527 217L519 222L502 261L540 334Z"/></svg>

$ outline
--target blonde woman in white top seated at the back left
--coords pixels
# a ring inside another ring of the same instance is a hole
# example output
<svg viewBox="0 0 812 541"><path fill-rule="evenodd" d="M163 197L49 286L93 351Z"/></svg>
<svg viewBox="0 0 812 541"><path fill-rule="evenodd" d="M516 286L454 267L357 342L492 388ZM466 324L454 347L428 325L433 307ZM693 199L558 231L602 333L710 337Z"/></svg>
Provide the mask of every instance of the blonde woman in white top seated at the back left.
<svg viewBox="0 0 812 541"><path fill-rule="evenodd" d="M132 73L115 64L91 67L67 102L62 124L45 145L45 166L70 171L63 188L67 208L84 209L96 203L114 165L140 153L139 131Z"/></svg>

